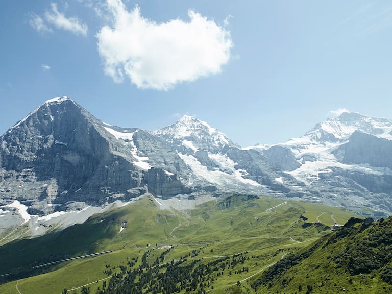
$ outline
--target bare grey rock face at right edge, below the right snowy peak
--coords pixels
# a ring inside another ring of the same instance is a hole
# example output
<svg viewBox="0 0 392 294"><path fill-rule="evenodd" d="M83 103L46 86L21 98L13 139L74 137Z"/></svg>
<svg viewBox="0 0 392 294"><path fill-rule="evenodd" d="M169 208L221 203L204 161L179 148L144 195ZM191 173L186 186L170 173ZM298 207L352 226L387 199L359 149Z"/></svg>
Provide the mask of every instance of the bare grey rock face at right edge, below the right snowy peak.
<svg viewBox="0 0 392 294"><path fill-rule="evenodd" d="M392 168L392 141L355 131L348 143L332 152L342 163Z"/></svg>

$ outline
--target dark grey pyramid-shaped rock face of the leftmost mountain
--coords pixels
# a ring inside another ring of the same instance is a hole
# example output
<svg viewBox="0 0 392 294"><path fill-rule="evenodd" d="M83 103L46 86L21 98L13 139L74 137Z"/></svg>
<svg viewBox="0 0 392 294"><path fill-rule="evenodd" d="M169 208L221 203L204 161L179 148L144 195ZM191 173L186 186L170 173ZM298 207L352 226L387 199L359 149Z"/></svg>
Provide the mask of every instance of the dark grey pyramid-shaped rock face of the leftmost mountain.
<svg viewBox="0 0 392 294"><path fill-rule="evenodd" d="M33 111L0 138L1 198L28 202L42 214L52 211L45 208L48 203L100 205L113 193L138 187L141 171L127 157L113 154L122 151L131 158L108 140L101 125L66 98ZM12 184L15 180L19 185Z"/></svg>

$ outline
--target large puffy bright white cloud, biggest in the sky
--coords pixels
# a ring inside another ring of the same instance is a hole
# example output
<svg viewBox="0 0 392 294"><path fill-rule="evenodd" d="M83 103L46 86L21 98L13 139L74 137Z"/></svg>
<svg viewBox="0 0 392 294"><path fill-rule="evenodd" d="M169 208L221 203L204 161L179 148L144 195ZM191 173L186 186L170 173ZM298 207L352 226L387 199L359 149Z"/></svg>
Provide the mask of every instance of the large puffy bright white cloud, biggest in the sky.
<svg viewBox="0 0 392 294"><path fill-rule="evenodd" d="M138 6L127 11L121 0L107 0L107 6L113 25L96 37L105 73L116 83L128 77L138 88L168 90L218 74L230 59L230 32L193 10L188 22L156 23Z"/></svg>

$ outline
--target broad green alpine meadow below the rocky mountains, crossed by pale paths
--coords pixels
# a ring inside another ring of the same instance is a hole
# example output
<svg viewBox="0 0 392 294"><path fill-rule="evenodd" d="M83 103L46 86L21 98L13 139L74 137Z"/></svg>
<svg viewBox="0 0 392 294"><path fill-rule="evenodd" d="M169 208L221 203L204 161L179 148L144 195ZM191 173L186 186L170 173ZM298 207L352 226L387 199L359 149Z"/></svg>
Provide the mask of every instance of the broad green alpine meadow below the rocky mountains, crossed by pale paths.
<svg viewBox="0 0 392 294"><path fill-rule="evenodd" d="M322 224L310 225L320 214ZM246 195L231 195L184 213L160 210L152 198L145 197L135 204L94 215L86 223L61 232L1 246L0 275L11 272L14 275L9 278L15 279L24 272L35 276L0 285L0 292L18 293L18 283L21 293L61 293L64 288L91 282L89 287L95 291L102 288L104 281L94 281L118 273L118 266L127 266L129 261L135 263L133 268L140 266L144 253L148 253L146 262L151 266L157 258L159 263L165 263L187 256L188 260L181 265L185 266L193 261L208 264L223 256L242 253L243 263L225 267L214 281L210 278L208 289L213 286L217 293L228 289L254 292L249 281L287 253L298 252L329 233L328 228L334 223L331 215L336 221L345 222L354 214L340 208ZM304 217L308 218L308 226L304 225ZM121 226L125 228L120 232ZM174 246L163 260L160 256L167 248L159 248L162 244ZM31 271L39 264L104 250L114 252ZM197 254L192 257L193 252ZM50 272L40 274L43 271ZM242 281L239 287L237 281Z"/></svg>

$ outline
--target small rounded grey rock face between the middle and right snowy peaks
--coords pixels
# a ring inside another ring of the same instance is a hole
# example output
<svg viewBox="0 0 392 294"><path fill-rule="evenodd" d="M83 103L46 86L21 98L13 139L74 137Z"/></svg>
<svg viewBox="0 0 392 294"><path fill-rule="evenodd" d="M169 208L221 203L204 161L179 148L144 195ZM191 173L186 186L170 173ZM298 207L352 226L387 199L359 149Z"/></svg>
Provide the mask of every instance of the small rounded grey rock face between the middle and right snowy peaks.
<svg viewBox="0 0 392 294"><path fill-rule="evenodd" d="M264 150L263 155L269 163L282 170L292 171L301 166L296 156L288 148L276 145Z"/></svg>

